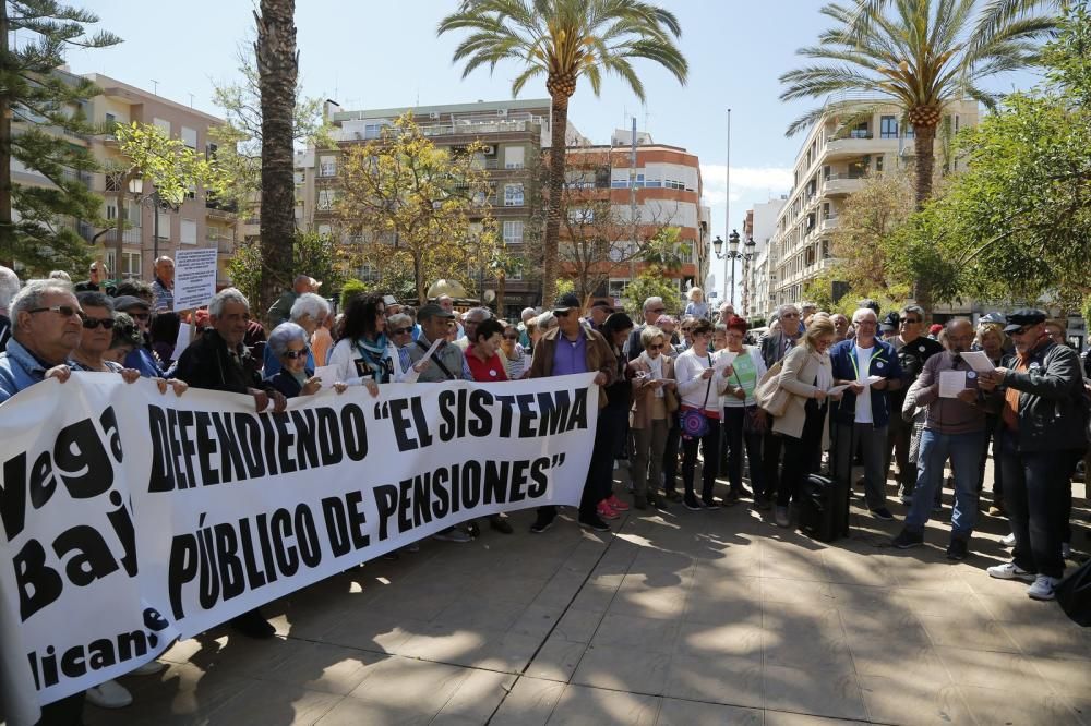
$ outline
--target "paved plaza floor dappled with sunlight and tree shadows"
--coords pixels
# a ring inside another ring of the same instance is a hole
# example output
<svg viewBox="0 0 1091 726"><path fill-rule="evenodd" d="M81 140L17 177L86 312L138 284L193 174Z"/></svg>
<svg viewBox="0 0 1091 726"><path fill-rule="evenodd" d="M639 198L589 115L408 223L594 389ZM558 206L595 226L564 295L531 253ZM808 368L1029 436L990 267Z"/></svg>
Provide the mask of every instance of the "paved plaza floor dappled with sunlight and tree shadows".
<svg viewBox="0 0 1091 726"><path fill-rule="evenodd" d="M267 605L275 639L180 642L160 675L123 679L132 706L86 721L1091 725L1091 629L985 574L1005 520L982 516L947 561L945 501L908 552L888 545L900 505L896 522L854 506L831 545L748 503L630 512L603 535L572 509L531 535L517 512L514 535L425 541Z"/></svg>

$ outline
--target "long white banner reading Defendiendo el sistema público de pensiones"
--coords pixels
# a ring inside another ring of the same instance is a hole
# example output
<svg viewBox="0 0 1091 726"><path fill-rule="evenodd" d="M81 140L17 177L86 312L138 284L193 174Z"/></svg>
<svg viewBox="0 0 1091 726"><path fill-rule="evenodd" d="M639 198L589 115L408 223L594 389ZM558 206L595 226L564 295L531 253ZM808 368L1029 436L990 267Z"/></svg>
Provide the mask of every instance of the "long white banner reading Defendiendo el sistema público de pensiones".
<svg viewBox="0 0 1091 726"><path fill-rule="evenodd" d="M105 373L24 390L0 408L8 723L452 524L577 504L592 378L350 387L283 413Z"/></svg>

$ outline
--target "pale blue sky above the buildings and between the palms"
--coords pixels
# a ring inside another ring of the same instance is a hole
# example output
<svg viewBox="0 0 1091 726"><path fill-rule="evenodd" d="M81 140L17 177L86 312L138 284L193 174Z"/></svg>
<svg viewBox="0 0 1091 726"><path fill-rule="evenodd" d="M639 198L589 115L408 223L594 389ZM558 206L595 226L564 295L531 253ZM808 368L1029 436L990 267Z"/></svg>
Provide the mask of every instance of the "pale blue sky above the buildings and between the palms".
<svg viewBox="0 0 1091 726"><path fill-rule="evenodd" d="M663 1L663 0L661 0ZM237 76L239 44L253 33L249 0L189 0L184 3L135 0L75 0L94 9L101 27L124 43L70 56L77 73L106 73L211 113L214 83ZM727 194L727 109L731 108L731 227L745 210L788 191L801 137L784 129L808 104L782 104L778 76L794 68L796 48L815 41L826 19L819 0L666 0L683 28L690 83L680 86L666 71L637 61L647 105L618 78L608 78L596 98L580 84L570 120L597 143L614 128L637 126L660 143L684 146L699 156L714 233L723 234ZM435 26L455 0L297 0L300 72L309 96L334 98L346 108L388 108L455 104L511 97L514 64L495 75L475 71L461 78L451 62L454 36L436 38ZM1028 74L1000 82L1026 86ZM544 83L523 98L546 97Z"/></svg>

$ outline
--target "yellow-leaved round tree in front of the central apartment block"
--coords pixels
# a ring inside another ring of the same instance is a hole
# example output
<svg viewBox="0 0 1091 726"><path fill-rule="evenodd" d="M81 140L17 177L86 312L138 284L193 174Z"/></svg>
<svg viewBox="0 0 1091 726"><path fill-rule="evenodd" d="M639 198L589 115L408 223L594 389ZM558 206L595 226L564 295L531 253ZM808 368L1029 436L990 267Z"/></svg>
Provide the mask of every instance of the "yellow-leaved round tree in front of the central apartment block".
<svg viewBox="0 0 1091 726"><path fill-rule="evenodd" d="M335 202L343 231L361 240L384 281L408 274L420 302L440 278L472 287L496 257L488 201L495 192L475 159L482 149L437 148L405 116L344 157Z"/></svg>

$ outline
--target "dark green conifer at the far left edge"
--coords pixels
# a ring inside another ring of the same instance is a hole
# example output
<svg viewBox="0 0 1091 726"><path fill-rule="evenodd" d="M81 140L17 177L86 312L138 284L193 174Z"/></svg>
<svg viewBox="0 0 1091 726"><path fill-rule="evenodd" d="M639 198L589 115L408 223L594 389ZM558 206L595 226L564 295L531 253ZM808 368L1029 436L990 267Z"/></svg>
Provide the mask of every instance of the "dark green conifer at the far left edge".
<svg viewBox="0 0 1091 726"><path fill-rule="evenodd" d="M99 90L58 72L69 48L121 43L105 31L88 34L97 22L53 0L0 1L0 255L33 275L82 268L86 244L68 220L99 221L101 198L86 184L97 164L71 138L99 131L80 112ZM13 184L13 160L48 183Z"/></svg>

